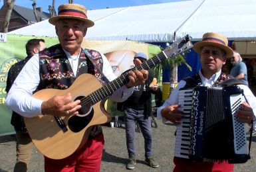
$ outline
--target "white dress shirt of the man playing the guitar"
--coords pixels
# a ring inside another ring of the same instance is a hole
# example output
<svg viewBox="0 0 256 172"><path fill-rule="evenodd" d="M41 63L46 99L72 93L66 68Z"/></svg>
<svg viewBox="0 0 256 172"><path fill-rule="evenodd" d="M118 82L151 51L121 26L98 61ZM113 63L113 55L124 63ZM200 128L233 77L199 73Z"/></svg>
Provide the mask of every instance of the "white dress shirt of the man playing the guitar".
<svg viewBox="0 0 256 172"><path fill-rule="evenodd" d="M66 51L66 56L72 66L74 75L78 67L78 59L71 57ZM101 54L103 60L102 73L108 78L109 81L116 79L116 75L112 72L112 67L106 57ZM35 54L27 64L23 67L17 78L15 79L9 93L6 97L5 105L11 110L26 117L33 117L41 114L41 105L43 101L31 97L33 91L37 89L40 82L39 74L39 54ZM125 85L115 91L111 97L113 101L122 102L128 99L134 87L127 88Z"/></svg>

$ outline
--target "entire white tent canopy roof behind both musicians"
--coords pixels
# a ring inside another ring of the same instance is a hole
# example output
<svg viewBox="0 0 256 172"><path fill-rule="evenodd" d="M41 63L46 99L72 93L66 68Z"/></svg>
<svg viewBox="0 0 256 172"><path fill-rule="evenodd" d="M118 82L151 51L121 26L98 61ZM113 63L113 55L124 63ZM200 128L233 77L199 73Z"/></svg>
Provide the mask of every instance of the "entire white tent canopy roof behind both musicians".
<svg viewBox="0 0 256 172"><path fill-rule="evenodd" d="M231 40L256 38L256 0L191 0L88 11L95 22L89 40L170 42L185 34L193 40L205 32L220 32ZM9 34L57 36L48 21Z"/></svg>

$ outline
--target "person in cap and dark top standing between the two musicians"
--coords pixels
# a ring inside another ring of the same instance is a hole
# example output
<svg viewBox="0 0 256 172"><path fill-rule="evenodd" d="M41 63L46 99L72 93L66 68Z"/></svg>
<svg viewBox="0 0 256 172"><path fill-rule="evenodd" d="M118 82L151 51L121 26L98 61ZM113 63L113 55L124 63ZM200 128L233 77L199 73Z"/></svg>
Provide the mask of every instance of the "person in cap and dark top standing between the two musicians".
<svg viewBox="0 0 256 172"><path fill-rule="evenodd" d="M147 60L146 54L140 52L134 56L135 60L142 62ZM158 163L152 157L152 126L148 118L152 113L151 93L156 93L158 90L157 84L152 84L153 75L149 72L148 79L142 85L134 88L134 93L122 103L124 110L124 124L126 130L126 146L128 150L128 163L126 169L134 169L136 165L136 147L135 147L135 128L136 121L140 126L140 130L144 137L145 162L153 168L159 167Z"/></svg>

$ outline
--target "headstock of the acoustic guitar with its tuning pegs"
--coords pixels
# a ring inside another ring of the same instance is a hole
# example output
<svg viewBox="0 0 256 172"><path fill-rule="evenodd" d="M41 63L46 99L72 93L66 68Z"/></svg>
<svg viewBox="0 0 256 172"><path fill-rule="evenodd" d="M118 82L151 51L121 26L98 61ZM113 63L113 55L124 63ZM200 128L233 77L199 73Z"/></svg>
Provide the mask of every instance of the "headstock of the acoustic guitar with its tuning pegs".
<svg viewBox="0 0 256 172"><path fill-rule="evenodd" d="M178 54L181 54L182 52L186 52L187 50L192 48L193 44L190 40L191 40L191 37L188 34L180 38L179 40L176 40L176 42L172 43L170 46L168 46L168 48L166 48L163 51L166 58L177 56Z"/></svg>

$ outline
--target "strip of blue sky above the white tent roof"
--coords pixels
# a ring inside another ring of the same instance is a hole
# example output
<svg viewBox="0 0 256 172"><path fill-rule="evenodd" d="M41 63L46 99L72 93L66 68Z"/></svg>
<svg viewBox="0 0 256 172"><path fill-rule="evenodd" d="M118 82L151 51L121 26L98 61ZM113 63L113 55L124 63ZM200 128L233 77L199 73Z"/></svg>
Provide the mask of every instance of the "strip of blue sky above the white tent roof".
<svg viewBox="0 0 256 172"><path fill-rule="evenodd" d="M3 5L1 0L0 5ZM106 7L130 7L137 5L149 5L155 3L170 3L174 1L185 1L185 0L73 0L73 3L84 5L87 9L106 9ZM52 5L52 0L36 0L37 7L43 7L43 11L48 12L48 6ZM58 9L59 5L68 3L68 0L55 0L55 9ZM15 5L27 7L32 9L31 0L16 0Z"/></svg>

